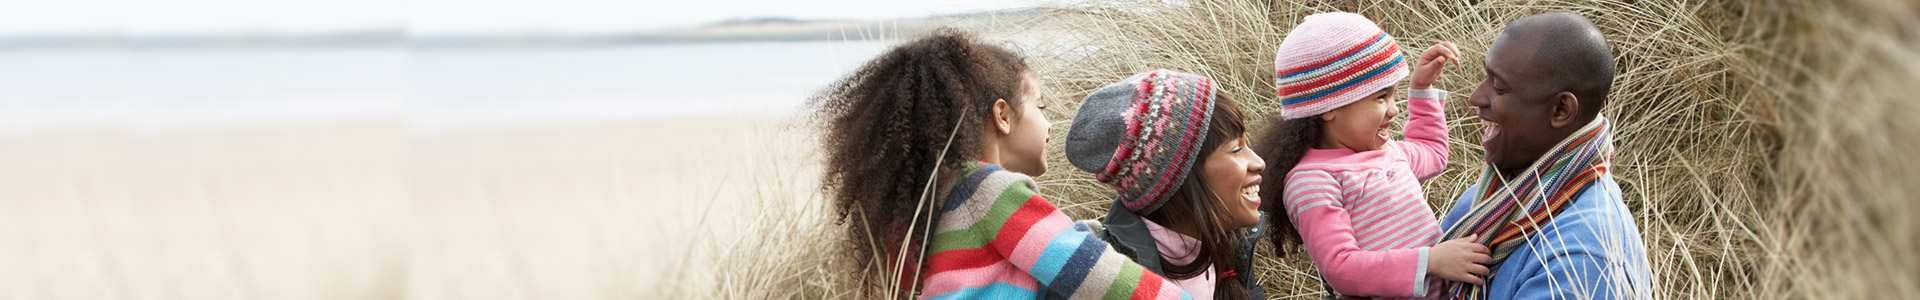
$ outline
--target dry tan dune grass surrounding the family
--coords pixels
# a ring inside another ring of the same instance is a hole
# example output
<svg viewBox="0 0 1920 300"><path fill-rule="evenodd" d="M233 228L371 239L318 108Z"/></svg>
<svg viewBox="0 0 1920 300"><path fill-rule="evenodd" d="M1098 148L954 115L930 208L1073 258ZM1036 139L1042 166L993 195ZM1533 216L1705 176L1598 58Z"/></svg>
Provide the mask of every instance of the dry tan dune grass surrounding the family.
<svg viewBox="0 0 1920 300"><path fill-rule="evenodd" d="M1649 248L1655 296L1920 296L1920 223L1908 217L1920 213L1920 160L1901 156L1920 148L1920 104L1905 100L1920 94L1912 2L1091 0L996 35L1025 40L1058 129L1092 88L1154 67L1206 73L1254 115L1275 113L1273 48L1317 12L1369 15L1405 48L1453 40L1467 60L1436 85L1455 94L1453 165L1425 185L1446 210L1480 169L1467 138L1480 127L1461 104L1478 58L1507 21L1561 10L1594 19L1619 58L1605 110L1619 123L1615 179ZM1050 146L1050 163L1066 165ZM1098 217L1112 194L1077 171L1041 181L1073 217ZM699 262L720 271L689 271L674 290L862 298L828 252L828 212L789 206L803 213L764 215L756 227L774 233ZM1306 258L1261 258L1269 296L1321 292Z"/></svg>

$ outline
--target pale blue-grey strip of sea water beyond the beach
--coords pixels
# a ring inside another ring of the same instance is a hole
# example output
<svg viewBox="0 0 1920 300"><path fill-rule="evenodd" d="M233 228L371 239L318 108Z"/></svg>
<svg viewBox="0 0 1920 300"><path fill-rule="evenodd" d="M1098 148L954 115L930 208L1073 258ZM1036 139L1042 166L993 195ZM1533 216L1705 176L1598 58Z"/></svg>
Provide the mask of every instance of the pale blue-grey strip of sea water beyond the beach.
<svg viewBox="0 0 1920 300"><path fill-rule="evenodd" d="M432 131L787 112L889 44L0 50L0 129L388 115Z"/></svg>

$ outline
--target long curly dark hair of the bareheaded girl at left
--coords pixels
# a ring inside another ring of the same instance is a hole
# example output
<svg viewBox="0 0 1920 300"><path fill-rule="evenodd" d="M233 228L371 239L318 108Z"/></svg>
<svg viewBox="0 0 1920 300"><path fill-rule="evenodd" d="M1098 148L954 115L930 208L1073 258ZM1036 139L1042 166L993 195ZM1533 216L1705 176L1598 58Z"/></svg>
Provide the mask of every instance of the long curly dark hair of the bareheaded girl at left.
<svg viewBox="0 0 1920 300"><path fill-rule="evenodd" d="M931 200L975 160L995 102L1018 108L1021 94L1037 92L1025 90L1027 75L1027 63L1006 48L935 29L808 100L824 131L820 190L847 229L843 254L864 288L900 279L897 285L912 290L920 248L935 225Z"/></svg>

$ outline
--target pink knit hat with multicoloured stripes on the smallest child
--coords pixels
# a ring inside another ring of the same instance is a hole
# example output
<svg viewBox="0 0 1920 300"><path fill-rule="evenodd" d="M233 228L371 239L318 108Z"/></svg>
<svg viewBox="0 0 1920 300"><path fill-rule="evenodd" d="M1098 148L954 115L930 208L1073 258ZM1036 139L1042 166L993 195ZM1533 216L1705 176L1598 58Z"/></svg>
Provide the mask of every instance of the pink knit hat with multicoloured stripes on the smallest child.
<svg viewBox="0 0 1920 300"><path fill-rule="evenodd" d="M1344 12L1300 21L1281 40L1273 69L1284 119L1327 113L1407 77L1394 37Z"/></svg>

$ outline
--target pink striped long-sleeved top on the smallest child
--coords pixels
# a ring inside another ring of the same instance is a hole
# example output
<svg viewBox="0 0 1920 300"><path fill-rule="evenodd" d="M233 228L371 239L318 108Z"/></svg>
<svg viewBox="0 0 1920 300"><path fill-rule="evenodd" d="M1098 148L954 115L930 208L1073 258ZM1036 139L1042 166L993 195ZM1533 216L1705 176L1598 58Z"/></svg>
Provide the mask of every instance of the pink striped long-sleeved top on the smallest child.
<svg viewBox="0 0 1920 300"><path fill-rule="evenodd" d="M1380 150L1308 150L1286 175L1283 208L1321 279L1340 296L1438 296L1427 250L1440 221L1421 181L1446 169L1444 90L1407 94L1407 140Z"/></svg>

